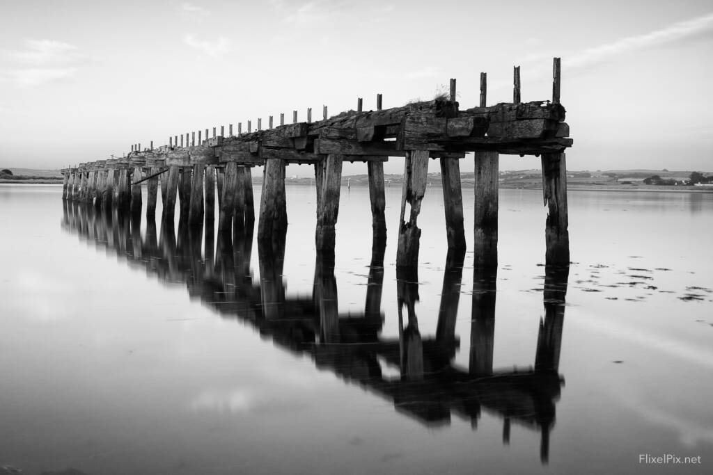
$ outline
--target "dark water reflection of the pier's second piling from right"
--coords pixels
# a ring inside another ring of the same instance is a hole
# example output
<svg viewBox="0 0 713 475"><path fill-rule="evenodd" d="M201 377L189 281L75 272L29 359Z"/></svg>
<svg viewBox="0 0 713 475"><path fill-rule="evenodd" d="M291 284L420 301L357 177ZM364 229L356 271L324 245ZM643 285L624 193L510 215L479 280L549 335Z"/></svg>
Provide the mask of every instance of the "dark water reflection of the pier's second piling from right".
<svg viewBox="0 0 713 475"><path fill-rule="evenodd" d="M497 268L473 269L471 355L468 371L473 376L493 374Z"/></svg>

